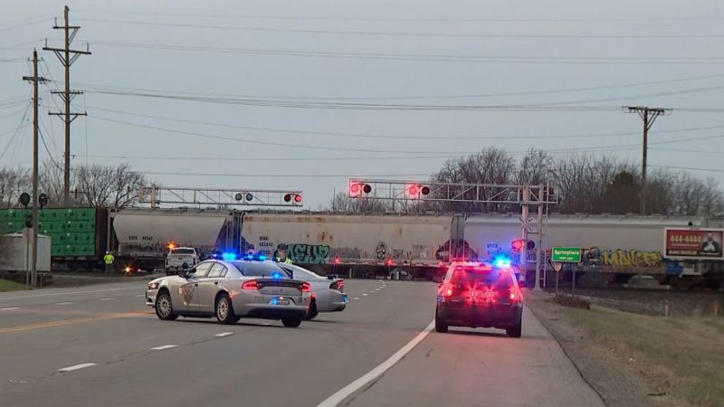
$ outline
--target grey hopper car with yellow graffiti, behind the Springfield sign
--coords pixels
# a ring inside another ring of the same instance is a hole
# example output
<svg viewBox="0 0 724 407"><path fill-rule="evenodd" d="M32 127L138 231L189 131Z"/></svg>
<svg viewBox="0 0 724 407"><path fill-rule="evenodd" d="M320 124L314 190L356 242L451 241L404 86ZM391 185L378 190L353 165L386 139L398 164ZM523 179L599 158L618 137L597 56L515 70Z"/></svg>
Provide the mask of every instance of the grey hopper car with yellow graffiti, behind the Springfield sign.
<svg viewBox="0 0 724 407"><path fill-rule="evenodd" d="M624 281L632 274L686 276L710 274L719 279L721 262L667 260L662 253L666 228L721 227L720 219L700 217L638 215L553 215L545 221L541 250L554 246L580 247L582 264L576 270L610 274L611 280ZM465 240L483 255L510 248L520 236L520 220L515 215L475 215L465 222ZM531 239L536 240L535 235ZM528 253L529 270L535 257ZM549 262L545 264L549 266ZM662 282L672 282L662 277Z"/></svg>

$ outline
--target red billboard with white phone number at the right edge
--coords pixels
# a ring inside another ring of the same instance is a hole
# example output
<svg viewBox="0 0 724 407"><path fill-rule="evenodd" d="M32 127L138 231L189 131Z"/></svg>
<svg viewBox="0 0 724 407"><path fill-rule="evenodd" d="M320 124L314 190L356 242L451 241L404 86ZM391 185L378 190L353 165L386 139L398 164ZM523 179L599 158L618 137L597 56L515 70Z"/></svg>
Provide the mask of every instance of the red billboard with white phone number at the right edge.
<svg viewBox="0 0 724 407"><path fill-rule="evenodd" d="M663 257L676 260L722 260L724 229L666 228Z"/></svg>

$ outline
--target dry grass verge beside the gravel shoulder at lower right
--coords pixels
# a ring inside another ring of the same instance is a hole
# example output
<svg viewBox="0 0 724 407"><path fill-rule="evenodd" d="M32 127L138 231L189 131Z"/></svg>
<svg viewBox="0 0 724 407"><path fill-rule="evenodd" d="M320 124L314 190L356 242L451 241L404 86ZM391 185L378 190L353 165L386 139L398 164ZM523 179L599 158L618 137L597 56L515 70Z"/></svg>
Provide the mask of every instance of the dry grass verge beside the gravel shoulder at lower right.
<svg viewBox="0 0 724 407"><path fill-rule="evenodd" d="M637 374L700 406L724 406L724 318L649 317L610 308L555 307L588 339L605 345Z"/></svg>

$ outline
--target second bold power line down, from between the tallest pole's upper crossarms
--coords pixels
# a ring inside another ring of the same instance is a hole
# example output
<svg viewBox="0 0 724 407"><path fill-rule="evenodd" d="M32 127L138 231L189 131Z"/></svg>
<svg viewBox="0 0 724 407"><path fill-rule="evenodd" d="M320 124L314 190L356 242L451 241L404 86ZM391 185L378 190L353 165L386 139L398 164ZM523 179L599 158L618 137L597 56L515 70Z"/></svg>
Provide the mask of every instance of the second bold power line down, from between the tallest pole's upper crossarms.
<svg viewBox="0 0 724 407"><path fill-rule="evenodd" d="M173 45L158 43L121 43L109 41L86 40L93 45L107 47L123 47L135 49L165 50L165 51L190 51L190 52L216 52L216 53L239 53L251 55L271 56L296 56L296 57L320 57L337 59L362 59L381 61L429 61L429 62L473 62L473 63L568 63L568 64L666 64L666 65L690 65L690 64L714 64L724 63L724 57L573 57L573 56L517 56L517 55L455 55L455 54L409 54L409 53L386 53L386 52L319 52L319 51L294 51L274 49L253 49L253 48L232 48L219 46L193 46Z"/></svg>

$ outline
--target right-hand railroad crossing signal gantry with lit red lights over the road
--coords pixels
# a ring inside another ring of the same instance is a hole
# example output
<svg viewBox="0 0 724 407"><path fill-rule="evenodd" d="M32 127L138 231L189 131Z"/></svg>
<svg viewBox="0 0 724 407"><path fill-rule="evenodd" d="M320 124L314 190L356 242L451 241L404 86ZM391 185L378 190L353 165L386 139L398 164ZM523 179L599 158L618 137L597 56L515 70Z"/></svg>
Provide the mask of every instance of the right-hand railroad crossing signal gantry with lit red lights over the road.
<svg viewBox="0 0 724 407"><path fill-rule="evenodd" d="M350 178L349 197L392 201L393 204L421 201L520 205L520 239L512 241L511 249L519 254L521 267L529 262L527 253L535 251L535 289L540 289L543 210L548 205L558 203L557 194L550 185L458 184ZM538 210L536 218L529 215L531 206ZM529 237L535 237L535 240ZM453 240L462 239L451 236L451 241Z"/></svg>

